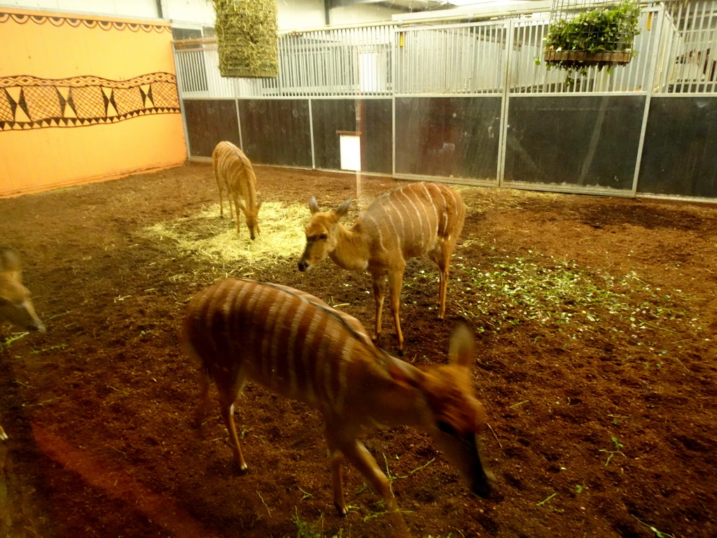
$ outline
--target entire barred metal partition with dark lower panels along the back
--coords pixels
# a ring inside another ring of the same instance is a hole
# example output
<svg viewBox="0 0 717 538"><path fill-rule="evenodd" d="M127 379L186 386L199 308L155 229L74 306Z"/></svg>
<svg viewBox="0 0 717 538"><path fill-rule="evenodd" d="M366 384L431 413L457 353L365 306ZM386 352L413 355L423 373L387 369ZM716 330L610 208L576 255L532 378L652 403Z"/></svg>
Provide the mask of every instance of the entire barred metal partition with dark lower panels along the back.
<svg viewBox="0 0 717 538"><path fill-rule="evenodd" d="M522 14L290 32L272 80L222 79L216 43L184 40L179 89L192 114L223 118L217 132L236 129L265 164L338 169L336 133L352 131L364 169L399 178L717 198L717 2L647 6L637 57L572 84L541 62L548 23ZM226 100L234 105L217 103ZM255 125L274 117L284 138ZM190 148L201 144L191 126L188 136ZM298 143L310 148L265 147Z"/></svg>

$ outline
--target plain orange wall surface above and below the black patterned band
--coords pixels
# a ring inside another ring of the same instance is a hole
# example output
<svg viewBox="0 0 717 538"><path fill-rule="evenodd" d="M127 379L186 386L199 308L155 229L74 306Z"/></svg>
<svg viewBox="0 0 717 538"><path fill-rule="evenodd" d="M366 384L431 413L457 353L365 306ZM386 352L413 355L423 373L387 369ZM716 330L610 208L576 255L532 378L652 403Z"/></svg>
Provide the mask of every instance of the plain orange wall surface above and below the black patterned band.
<svg viewBox="0 0 717 538"><path fill-rule="evenodd" d="M27 18L20 24L12 16L0 19L0 50L4 51L0 82L4 77L18 75L43 79L94 75L123 81L150 73L175 73L171 32L166 24L143 22L151 29L132 31L129 24L123 23L132 23L138 28L136 23L142 22L37 11L0 11L20 16L78 17L87 21L73 27L57 21L57 25L49 21L37 24ZM108 29L99 24L87 27L100 20L117 24L105 24ZM52 92L52 88L48 91ZM0 115L2 113L0 110ZM8 114L7 108L4 114ZM2 130L0 197L175 166L185 159L184 128L177 110L89 126Z"/></svg>

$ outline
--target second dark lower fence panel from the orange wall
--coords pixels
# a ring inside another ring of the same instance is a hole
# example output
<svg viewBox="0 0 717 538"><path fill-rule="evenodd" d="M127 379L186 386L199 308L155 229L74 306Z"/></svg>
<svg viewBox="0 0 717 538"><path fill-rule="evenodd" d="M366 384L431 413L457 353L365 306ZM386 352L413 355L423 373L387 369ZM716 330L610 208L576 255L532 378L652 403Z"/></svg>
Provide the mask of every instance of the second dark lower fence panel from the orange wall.
<svg viewBox="0 0 717 538"><path fill-rule="evenodd" d="M252 163L311 167L308 100L240 99L239 118Z"/></svg>

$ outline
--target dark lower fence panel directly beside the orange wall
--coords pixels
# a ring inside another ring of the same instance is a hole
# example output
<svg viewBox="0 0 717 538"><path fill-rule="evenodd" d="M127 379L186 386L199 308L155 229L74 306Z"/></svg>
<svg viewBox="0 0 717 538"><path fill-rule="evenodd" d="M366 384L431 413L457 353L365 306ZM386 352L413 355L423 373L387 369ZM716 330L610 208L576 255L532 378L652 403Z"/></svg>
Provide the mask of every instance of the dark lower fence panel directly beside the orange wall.
<svg viewBox="0 0 717 538"><path fill-rule="evenodd" d="M211 157L214 146L228 140L239 146L239 122L234 100L184 100L189 156Z"/></svg>

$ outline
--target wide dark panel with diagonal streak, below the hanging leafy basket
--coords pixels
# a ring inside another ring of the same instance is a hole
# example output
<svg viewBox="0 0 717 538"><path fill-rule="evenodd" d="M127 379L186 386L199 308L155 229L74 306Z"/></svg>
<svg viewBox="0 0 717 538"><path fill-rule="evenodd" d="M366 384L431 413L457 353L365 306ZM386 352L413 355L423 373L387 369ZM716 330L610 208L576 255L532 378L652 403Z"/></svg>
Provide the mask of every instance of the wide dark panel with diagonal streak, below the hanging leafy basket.
<svg viewBox="0 0 717 538"><path fill-rule="evenodd" d="M632 189L645 97L511 97L505 181Z"/></svg>

